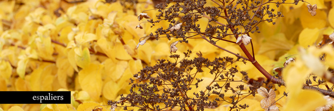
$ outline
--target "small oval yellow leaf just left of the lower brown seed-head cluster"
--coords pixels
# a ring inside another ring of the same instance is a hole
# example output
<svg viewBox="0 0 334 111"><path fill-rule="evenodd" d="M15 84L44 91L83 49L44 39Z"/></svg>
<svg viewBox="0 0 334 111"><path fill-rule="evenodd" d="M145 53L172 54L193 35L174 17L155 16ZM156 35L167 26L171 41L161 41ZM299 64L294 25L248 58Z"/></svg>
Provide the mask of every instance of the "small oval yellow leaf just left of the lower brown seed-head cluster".
<svg viewBox="0 0 334 111"><path fill-rule="evenodd" d="M109 81L103 87L103 96L109 100L114 100L118 95L120 87L114 82Z"/></svg>

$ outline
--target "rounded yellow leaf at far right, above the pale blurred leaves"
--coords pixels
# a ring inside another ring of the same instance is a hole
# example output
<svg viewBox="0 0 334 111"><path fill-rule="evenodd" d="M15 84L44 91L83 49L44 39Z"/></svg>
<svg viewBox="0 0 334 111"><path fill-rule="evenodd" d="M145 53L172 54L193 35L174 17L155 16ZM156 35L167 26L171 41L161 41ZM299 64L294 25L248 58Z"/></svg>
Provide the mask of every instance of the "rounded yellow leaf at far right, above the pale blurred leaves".
<svg viewBox="0 0 334 111"><path fill-rule="evenodd" d="M305 28L300 32L298 42L302 47L306 48L309 45L310 46L314 45L318 37L319 37L318 28L315 29Z"/></svg>

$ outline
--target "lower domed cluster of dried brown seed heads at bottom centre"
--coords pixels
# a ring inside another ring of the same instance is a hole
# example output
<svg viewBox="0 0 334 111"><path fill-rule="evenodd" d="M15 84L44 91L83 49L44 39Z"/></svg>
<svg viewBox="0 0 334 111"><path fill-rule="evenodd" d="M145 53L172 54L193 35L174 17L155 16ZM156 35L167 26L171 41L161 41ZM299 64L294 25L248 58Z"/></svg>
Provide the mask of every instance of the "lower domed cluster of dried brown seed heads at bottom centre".
<svg viewBox="0 0 334 111"><path fill-rule="evenodd" d="M185 57L189 57L192 52L184 52ZM170 56L175 60L179 55ZM234 80L234 76L239 72L233 63L239 61L233 58L224 57L209 61L203 57L193 60L183 59L179 62L159 60L153 67L145 67L139 73L134 75L136 79L131 79L130 94L121 95L120 102L108 101L108 104L122 104L124 110L131 110L139 107L139 110L204 110L205 107L218 107L221 102L232 104L230 108L243 109L247 104L238 104L242 95L255 95L256 89L262 84L254 83L251 87L239 85L231 87L230 82L240 82L248 80L246 72L241 71L241 80ZM179 65L179 67L177 67ZM210 74L215 75L211 84L204 84L206 89L199 92L189 92L193 88L202 86L203 79L196 75L203 72L204 69L210 69ZM190 72L195 70L195 74ZM248 93L241 92L248 89ZM235 95L225 97L227 91L234 92ZM189 97L189 96L195 97ZM216 97L213 99L212 97ZM129 106L125 103L131 104ZM132 107L132 108L131 108Z"/></svg>

